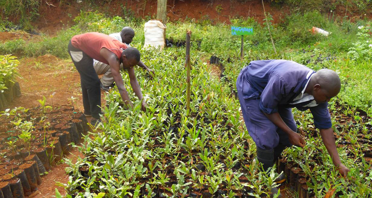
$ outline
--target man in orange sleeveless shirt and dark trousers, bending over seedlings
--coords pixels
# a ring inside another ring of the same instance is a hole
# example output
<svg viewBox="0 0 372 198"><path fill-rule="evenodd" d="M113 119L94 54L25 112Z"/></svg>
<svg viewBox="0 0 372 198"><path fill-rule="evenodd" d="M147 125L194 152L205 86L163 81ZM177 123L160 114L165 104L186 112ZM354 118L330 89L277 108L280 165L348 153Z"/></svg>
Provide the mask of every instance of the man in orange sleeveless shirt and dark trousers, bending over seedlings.
<svg viewBox="0 0 372 198"><path fill-rule="evenodd" d="M146 102L142 96L141 87L134 74L133 66L140 62L141 55L136 48L127 47L124 43L102 33L88 32L74 36L68 43L68 53L80 74L81 91L83 93L84 114L92 115L91 123L100 121L101 92L100 80L93 68L93 59L110 65L112 77L118 87L124 103L133 107L120 74L120 64L128 70L133 91L142 100L142 110Z"/></svg>

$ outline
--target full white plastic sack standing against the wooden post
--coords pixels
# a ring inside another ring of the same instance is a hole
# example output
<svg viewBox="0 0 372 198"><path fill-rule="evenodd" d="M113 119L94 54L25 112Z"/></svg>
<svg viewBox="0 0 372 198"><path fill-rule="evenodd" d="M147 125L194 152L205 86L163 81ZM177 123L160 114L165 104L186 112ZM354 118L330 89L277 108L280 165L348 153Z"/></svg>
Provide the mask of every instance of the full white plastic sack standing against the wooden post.
<svg viewBox="0 0 372 198"><path fill-rule="evenodd" d="M145 45L144 48L154 46L155 48L164 49L164 31L167 27L158 20L149 20L145 23Z"/></svg>

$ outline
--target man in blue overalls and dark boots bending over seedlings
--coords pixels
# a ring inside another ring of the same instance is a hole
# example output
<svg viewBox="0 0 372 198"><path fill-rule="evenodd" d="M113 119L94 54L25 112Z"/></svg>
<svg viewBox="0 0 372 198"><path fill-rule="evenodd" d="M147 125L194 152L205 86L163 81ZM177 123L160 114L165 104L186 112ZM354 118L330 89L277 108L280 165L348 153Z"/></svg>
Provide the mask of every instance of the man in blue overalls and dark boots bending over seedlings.
<svg viewBox="0 0 372 198"><path fill-rule="evenodd" d="M304 147L305 141L296 133L291 108L310 109L314 125L333 164L342 176L349 169L337 153L328 101L341 88L340 78L330 69L318 72L286 60L252 61L238 76L236 87L248 133L256 143L257 159L266 171L272 167L285 147ZM277 188L272 190L273 194Z"/></svg>

